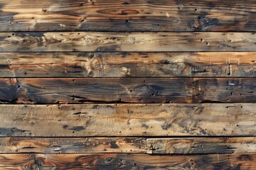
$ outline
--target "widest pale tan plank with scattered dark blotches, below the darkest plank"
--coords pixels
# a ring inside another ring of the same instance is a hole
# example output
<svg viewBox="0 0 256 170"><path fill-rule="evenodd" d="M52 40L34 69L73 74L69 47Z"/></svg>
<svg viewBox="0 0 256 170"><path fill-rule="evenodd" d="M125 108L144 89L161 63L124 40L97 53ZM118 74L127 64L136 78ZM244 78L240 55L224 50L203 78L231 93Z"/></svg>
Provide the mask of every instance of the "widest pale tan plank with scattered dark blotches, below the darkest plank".
<svg viewBox="0 0 256 170"><path fill-rule="evenodd" d="M1 105L3 137L248 136L255 103Z"/></svg>

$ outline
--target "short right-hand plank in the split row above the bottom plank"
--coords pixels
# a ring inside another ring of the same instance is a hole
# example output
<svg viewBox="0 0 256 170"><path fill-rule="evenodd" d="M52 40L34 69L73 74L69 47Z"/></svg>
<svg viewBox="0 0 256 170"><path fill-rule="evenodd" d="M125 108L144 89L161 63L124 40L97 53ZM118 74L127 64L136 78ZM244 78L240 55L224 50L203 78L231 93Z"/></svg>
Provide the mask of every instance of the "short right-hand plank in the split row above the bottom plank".
<svg viewBox="0 0 256 170"><path fill-rule="evenodd" d="M256 153L256 137L148 138L148 154Z"/></svg>

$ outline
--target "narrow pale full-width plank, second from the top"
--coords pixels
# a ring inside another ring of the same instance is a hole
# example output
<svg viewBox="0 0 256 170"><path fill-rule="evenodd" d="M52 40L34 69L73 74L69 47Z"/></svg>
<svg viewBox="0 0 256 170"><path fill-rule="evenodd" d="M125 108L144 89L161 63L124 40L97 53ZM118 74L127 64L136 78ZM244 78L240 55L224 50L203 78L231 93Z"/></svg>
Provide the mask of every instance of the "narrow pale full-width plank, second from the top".
<svg viewBox="0 0 256 170"><path fill-rule="evenodd" d="M255 50L255 33L0 33L0 52L198 52Z"/></svg>

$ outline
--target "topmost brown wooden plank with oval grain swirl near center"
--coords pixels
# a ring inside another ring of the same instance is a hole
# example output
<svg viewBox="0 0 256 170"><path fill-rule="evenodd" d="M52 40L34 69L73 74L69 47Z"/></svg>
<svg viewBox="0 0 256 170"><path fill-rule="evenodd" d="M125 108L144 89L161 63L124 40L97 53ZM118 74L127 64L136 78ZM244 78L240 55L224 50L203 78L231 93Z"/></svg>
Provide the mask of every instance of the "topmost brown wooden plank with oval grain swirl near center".
<svg viewBox="0 0 256 170"><path fill-rule="evenodd" d="M0 30L255 31L255 1L1 0Z"/></svg>

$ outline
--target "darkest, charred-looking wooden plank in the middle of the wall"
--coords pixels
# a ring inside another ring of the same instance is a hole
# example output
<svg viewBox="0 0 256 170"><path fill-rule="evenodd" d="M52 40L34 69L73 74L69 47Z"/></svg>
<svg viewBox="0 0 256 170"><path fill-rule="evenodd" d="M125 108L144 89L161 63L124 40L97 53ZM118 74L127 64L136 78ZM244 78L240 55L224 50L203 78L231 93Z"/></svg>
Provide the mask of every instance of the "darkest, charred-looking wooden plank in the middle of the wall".
<svg viewBox="0 0 256 170"><path fill-rule="evenodd" d="M256 102L253 78L3 78L0 103Z"/></svg>

